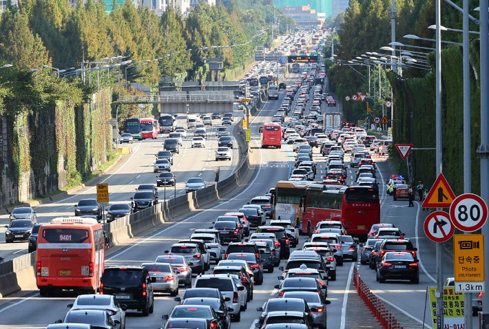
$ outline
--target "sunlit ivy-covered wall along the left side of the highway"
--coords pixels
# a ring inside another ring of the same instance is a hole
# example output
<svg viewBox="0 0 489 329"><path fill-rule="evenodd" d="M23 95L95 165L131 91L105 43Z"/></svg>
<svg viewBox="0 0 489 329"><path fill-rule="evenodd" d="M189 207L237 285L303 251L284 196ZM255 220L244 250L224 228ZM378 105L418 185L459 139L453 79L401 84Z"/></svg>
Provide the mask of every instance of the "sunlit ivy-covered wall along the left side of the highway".
<svg viewBox="0 0 489 329"><path fill-rule="evenodd" d="M0 76L3 157L0 206L76 186L112 148L112 88L12 69ZM19 97L23 92L24 96Z"/></svg>

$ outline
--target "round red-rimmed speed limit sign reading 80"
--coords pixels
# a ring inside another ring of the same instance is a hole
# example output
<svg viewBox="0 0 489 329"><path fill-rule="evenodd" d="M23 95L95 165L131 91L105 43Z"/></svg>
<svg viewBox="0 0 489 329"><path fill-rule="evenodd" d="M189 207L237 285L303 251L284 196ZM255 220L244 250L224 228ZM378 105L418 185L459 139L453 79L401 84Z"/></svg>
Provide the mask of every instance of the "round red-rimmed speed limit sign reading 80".
<svg viewBox="0 0 489 329"><path fill-rule="evenodd" d="M488 206L479 195L459 195L450 205L450 219L460 231L477 231L488 219Z"/></svg>

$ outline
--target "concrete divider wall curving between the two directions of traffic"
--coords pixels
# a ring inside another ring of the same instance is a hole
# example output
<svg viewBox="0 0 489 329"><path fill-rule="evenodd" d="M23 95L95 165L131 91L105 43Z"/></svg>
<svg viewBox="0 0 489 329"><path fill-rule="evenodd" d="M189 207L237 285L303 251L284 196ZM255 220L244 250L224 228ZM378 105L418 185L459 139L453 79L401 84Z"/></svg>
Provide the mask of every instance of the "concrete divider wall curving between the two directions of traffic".
<svg viewBox="0 0 489 329"><path fill-rule="evenodd" d="M240 125L239 121L236 126L238 125ZM238 131L240 130L238 129ZM238 145L240 145L240 149L246 150L246 147L242 147L243 144L243 136L240 131L238 133ZM244 160L240 163L238 169L225 180L211 184L199 191L165 200L155 206L104 224L104 230L110 239L110 247L127 242L129 238L137 237L148 229L152 229L165 222L171 222L171 220L176 219L178 216L195 211L210 202L224 198L225 195L239 187L247 176L250 167L248 153L244 153L244 156L241 158ZM171 189L168 194L171 195ZM35 286L35 264L35 251L1 263L0 298Z"/></svg>

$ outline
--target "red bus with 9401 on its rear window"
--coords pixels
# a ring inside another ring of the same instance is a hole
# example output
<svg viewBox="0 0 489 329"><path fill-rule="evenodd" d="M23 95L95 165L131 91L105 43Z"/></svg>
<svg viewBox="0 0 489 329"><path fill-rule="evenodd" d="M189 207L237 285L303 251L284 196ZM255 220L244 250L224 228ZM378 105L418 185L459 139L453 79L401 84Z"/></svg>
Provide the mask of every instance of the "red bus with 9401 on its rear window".
<svg viewBox="0 0 489 329"><path fill-rule="evenodd" d="M98 291L105 269L105 241L102 224L92 218L58 217L43 224L37 238L39 294Z"/></svg>

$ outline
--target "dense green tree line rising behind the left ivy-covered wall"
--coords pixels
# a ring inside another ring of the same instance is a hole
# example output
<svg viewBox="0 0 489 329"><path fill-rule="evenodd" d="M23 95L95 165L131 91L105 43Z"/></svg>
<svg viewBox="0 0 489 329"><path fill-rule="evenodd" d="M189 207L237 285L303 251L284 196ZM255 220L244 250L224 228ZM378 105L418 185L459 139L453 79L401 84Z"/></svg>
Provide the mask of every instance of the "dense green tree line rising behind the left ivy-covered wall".
<svg viewBox="0 0 489 329"><path fill-rule="evenodd" d="M1 15L0 59L32 70L43 65L81 67L83 61L114 56L136 62L174 54L128 70L128 80L155 85L160 76L202 78L206 59L222 57L223 68L232 69L253 56L256 45L270 43L268 33L245 46L197 50L246 43L259 30L269 28L273 3L269 1L262 11L254 1L239 1L237 6L230 0L227 7L199 3L184 19L179 10L169 8L158 17L144 6L136 8L129 0L123 5L114 1L110 14L105 12L103 1L88 0L83 5L79 0L72 6L68 0L22 0L18 8L10 7ZM278 10L277 15L287 21Z"/></svg>

